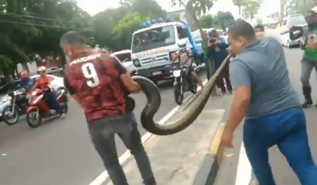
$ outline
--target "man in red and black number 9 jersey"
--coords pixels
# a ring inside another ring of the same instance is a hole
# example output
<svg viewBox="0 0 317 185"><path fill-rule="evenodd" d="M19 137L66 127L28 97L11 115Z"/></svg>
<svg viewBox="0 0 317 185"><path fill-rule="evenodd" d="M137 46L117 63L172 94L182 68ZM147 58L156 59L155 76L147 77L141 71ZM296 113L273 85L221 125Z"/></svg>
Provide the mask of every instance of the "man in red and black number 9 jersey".
<svg viewBox="0 0 317 185"><path fill-rule="evenodd" d="M144 184L156 185L133 114L135 102L129 97L140 91L139 84L114 57L90 51L80 33L65 33L60 46L69 58L65 87L85 112L94 147L113 185L128 185L119 164L114 134L133 154Z"/></svg>

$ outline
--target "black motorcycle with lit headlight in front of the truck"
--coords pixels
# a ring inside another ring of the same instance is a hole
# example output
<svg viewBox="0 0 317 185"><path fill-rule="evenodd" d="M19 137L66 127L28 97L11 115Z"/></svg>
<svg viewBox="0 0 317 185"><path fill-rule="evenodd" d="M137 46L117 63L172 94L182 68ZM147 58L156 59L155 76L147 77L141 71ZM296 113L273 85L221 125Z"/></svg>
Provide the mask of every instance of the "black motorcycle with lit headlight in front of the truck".
<svg viewBox="0 0 317 185"><path fill-rule="evenodd" d="M197 83L189 72L187 66L181 65L180 63L174 63L174 99L176 104L183 104L184 92L197 93Z"/></svg>

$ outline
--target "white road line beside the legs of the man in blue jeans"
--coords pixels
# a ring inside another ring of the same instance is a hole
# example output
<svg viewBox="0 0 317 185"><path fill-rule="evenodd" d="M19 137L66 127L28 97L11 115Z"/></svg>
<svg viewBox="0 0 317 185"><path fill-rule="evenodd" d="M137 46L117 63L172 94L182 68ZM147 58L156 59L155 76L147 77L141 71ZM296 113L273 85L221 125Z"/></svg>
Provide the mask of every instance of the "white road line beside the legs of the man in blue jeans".
<svg viewBox="0 0 317 185"><path fill-rule="evenodd" d="M245 148L242 142L241 148L240 148L240 154L239 154L235 185L248 185L251 181L251 176L252 176L251 164L249 162L247 154L245 153Z"/></svg>

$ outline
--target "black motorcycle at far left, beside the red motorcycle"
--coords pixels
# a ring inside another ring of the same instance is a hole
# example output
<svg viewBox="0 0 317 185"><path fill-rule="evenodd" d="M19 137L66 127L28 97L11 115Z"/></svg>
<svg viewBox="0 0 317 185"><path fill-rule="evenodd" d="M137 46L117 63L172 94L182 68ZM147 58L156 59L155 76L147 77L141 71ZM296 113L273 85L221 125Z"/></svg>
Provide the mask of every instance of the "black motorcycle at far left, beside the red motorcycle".
<svg viewBox="0 0 317 185"><path fill-rule="evenodd" d="M26 98L24 89L16 92L8 92L8 97L10 104L3 109L2 115L5 123L14 125L21 115L26 114L29 100Z"/></svg>

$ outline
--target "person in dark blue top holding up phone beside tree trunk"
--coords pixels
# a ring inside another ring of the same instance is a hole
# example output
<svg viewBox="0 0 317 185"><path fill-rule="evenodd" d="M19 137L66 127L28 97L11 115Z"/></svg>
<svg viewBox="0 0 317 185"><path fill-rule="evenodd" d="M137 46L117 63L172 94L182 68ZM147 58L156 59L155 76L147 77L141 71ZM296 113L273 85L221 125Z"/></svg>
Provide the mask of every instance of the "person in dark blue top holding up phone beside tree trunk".
<svg viewBox="0 0 317 185"><path fill-rule="evenodd" d="M216 30L212 30L209 33L207 57L213 61L215 71L219 68L224 59L229 55L228 47L229 45L226 42L220 41L219 35ZM224 86L223 80L226 81L227 89ZM221 89L222 94L225 94L227 90L230 94L232 93L232 86L229 78L229 62L224 66L219 77L217 78L217 87Z"/></svg>

